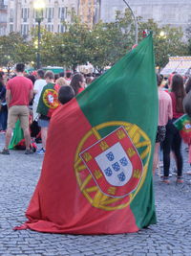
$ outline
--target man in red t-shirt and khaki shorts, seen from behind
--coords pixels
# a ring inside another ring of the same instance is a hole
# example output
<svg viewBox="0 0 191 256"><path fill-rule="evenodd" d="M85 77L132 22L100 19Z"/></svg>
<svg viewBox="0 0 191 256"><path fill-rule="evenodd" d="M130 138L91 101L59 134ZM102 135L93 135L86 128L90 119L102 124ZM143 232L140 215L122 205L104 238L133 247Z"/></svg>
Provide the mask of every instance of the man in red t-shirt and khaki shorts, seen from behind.
<svg viewBox="0 0 191 256"><path fill-rule="evenodd" d="M25 154L30 154L31 134L29 128L29 104L33 97L32 81L24 77L25 64L17 63L15 68L16 77L8 81L6 102L9 108L8 112L8 128L6 131L5 147L2 154L10 154L8 147L11 141L12 128L19 119L21 128L23 129L26 151Z"/></svg>

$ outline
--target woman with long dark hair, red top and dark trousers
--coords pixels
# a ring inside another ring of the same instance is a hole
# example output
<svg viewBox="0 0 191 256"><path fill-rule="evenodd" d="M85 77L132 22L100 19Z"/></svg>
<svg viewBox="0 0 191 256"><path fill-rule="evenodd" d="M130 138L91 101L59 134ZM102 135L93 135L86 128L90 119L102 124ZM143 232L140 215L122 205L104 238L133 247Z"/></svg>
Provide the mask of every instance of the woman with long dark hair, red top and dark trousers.
<svg viewBox="0 0 191 256"><path fill-rule="evenodd" d="M166 126L166 136L163 141L163 171L164 175L162 181L169 184L169 168L170 168L170 151L172 150L177 164L177 183L182 183L182 155L180 152L181 137L180 131L173 125L183 113L182 101L185 96L185 90L183 87L183 78L175 74L172 79L172 87L170 96L173 105L173 119L168 121Z"/></svg>

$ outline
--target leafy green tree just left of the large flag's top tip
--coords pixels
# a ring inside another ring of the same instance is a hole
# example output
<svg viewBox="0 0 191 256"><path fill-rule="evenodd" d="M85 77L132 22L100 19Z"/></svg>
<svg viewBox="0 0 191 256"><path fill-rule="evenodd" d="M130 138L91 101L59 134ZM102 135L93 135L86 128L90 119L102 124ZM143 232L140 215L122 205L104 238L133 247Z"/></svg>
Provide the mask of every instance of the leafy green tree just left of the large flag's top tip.
<svg viewBox="0 0 191 256"><path fill-rule="evenodd" d="M98 22L92 32L91 62L101 72L105 66L113 65L134 44L134 25L131 13L117 12L116 21Z"/></svg>

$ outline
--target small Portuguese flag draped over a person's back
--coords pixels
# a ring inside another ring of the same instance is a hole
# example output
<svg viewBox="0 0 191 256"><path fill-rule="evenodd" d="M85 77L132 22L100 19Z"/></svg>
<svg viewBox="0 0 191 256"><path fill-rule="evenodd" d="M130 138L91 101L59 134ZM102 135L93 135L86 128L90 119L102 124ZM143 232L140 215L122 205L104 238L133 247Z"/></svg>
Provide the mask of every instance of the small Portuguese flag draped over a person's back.
<svg viewBox="0 0 191 256"><path fill-rule="evenodd" d="M36 112L51 117L53 111L58 107L59 102L57 99L59 85L52 82L46 84L40 95Z"/></svg>

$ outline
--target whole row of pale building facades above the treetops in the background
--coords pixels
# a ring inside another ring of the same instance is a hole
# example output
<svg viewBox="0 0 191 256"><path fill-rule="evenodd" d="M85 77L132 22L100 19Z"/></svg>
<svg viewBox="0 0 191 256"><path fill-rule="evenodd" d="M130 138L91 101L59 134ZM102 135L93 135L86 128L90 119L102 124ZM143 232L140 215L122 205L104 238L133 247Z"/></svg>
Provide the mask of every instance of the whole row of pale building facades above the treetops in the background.
<svg viewBox="0 0 191 256"><path fill-rule="evenodd" d="M20 32L29 35L36 26L33 2L38 0L8 0L7 34ZM159 25L169 24L185 30L191 22L191 0L126 0L136 16L143 21L153 18ZM0 0L0 3L3 2ZM71 13L80 16L82 22L93 26L99 19L104 22L115 20L117 11L127 6L123 0L44 0L42 25L50 32L65 31L63 21L71 22ZM2 11L3 13L3 11ZM5 14L4 14L5 15ZM2 15L1 19L3 18ZM4 26L5 27L5 26Z"/></svg>

